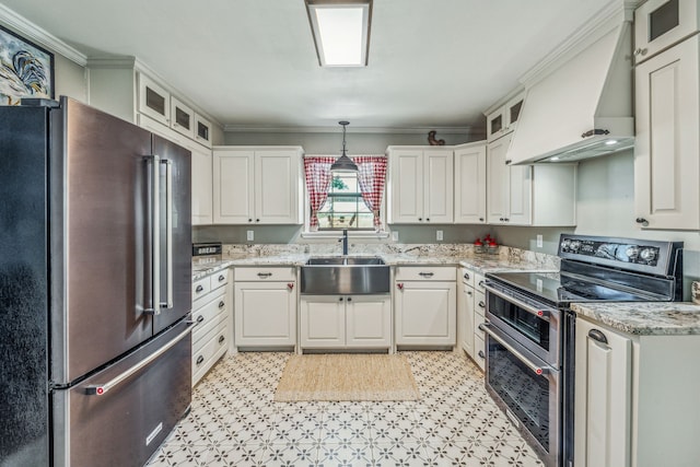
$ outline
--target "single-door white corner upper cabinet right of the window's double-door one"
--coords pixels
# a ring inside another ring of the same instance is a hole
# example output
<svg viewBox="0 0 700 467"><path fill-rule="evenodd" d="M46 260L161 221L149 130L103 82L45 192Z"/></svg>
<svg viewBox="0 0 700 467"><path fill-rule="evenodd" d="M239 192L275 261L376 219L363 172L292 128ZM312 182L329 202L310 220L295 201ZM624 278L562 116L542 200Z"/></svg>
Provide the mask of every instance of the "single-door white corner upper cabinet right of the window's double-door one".
<svg viewBox="0 0 700 467"><path fill-rule="evenodd" d="M486 223L486 142L455 148L455 223Z"/></svg>

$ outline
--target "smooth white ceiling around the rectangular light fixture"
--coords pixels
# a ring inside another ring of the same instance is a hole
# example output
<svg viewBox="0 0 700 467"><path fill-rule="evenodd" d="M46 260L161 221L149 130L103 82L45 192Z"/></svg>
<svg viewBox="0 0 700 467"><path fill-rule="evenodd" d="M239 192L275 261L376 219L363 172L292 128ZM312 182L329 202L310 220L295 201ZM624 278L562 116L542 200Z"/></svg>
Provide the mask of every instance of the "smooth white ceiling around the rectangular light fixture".
<svg viewBox="0 0 700 467"><path fill-rule="evenodd" d="M610 0L374 0L369 66L320 68L303 0L1 0L136 56L222 125L464 128Z"/></svg>

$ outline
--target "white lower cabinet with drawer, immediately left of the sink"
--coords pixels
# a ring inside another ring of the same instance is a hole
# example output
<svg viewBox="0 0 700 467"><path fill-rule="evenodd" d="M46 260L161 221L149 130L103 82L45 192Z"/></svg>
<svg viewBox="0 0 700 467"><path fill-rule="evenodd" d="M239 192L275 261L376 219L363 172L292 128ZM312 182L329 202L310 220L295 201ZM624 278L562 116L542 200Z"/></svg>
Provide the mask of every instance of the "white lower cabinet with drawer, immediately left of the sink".
<svg viewBox="0 0 700 467"><path fill-rule="evenodd" d="M294 347L295 268L235 268L234 280L236 347Z"/></svg>

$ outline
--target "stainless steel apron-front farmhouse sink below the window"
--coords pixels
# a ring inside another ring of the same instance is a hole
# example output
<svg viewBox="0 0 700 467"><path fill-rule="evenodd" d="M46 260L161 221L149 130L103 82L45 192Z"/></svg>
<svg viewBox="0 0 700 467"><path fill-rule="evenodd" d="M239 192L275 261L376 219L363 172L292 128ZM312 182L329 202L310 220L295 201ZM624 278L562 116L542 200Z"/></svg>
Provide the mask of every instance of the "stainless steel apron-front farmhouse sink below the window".
<svg viewBox="0 0 700 467"><path fill-rule="evenodd" d="M301 270L301 293L354 295L389 293L389 266L375 257L310 258Z"/></svg>

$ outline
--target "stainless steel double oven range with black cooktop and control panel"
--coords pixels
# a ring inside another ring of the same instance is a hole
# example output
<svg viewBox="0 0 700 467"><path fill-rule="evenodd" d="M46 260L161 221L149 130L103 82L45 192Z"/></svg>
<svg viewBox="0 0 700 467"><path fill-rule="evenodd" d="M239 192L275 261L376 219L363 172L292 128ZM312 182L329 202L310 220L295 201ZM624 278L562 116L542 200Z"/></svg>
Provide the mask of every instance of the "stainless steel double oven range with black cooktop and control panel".
<svg viewBox="0 0 700 467"><path fill-rule="evenodd" d="M682 244L562 234L559 272L488 273L486 386L547 466L573 465L571 303L678 301Z"/></svg>

